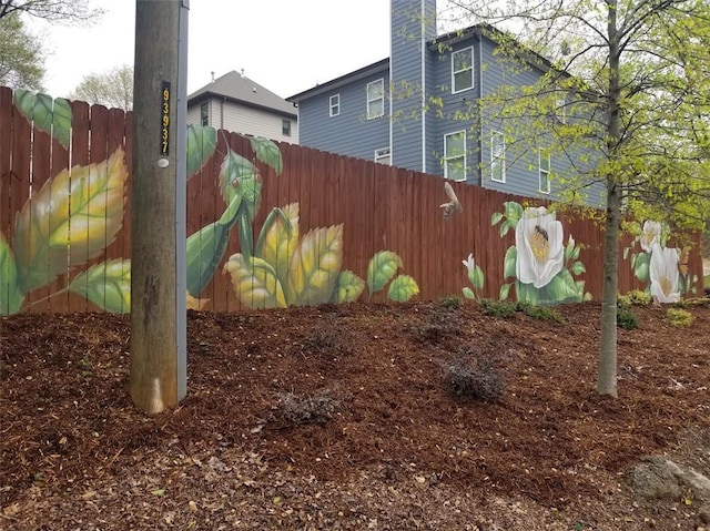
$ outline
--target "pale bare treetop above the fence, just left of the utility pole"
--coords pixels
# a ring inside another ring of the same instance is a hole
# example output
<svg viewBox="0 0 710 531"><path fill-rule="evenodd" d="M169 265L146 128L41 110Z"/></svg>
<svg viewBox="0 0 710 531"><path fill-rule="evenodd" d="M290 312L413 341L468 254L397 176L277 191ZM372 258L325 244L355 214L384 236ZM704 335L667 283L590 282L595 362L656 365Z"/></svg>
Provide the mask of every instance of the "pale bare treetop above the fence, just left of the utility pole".
<svg viewBox="0 0 710 531"><path fill-rule="evenodd" d="M129 111L133 106L133 68L124 64L85 75L71 98Z"/></svg>

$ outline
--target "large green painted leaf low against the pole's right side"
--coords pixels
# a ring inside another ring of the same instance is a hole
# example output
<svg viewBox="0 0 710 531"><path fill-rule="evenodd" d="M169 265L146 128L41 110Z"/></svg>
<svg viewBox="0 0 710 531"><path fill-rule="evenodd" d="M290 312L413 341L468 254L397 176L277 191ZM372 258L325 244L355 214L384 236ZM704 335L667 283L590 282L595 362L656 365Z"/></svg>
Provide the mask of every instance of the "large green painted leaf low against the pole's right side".
<svg viewBox="0 0 710 531"><path fill-rule="evenodd" d="M186 246L187 293L199 297L212 280L230 241L230 225L211 223L190 235Z"/></svg>

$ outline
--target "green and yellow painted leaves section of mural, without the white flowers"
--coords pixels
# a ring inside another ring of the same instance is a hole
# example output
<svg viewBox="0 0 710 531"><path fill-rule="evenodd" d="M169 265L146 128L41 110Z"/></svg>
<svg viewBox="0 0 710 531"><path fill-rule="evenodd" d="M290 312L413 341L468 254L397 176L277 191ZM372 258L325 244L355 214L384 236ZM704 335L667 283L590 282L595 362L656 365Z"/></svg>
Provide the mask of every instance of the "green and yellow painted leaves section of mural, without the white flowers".
<svg viewBox="0 0 710 531"><path fill-rule="evenodd" d="M30 124L69 147L72 112L65 100L16 91L14 103ZM256 160L281 174L281 152L274 142L250 137L250 144ZM215 149L216 130L189 127L187 178L203 167ZM123 226L128 175L125 154L119 147L106 161L62 170L31 194L10 238L0 232L0 315L20 312L29 293L62 275L67 276L67 287L52 296L72 292L103 310L130 312L130 259L85 267L111 245ZM223 214L186 241L189 308L206 305L200 295L223 262L233 229L237 231L240 253L229 258L224 272L248 307L345 303L363 294L365 280L354 272L341 270L342 224L315 228L300 238L298 204L293 203L272 210L253 248L253 224L262 190L255 161L229 149L219 180ZM398 274L403 267L395 252L385 249L373 256L366 272L368 295L387 287L389 299L404 302L418 294L416 280Z"/></svg>

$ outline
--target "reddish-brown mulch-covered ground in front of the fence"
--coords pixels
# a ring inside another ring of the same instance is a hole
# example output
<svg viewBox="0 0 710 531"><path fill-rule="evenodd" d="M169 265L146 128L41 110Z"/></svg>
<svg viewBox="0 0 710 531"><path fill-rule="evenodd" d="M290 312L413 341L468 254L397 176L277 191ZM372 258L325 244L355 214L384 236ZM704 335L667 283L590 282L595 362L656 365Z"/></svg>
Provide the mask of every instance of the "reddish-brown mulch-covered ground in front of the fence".
<svg viewBox="0 0 710 531"><path fill-rule="evenodd" d="M128 316L0 318L0 528L708 527L629 473L657 455L710 474L710 307L689 328L633 307L616 400L595 392L600 306L558 312L190 312L187 397L154 417L128 396Z"/></svg>

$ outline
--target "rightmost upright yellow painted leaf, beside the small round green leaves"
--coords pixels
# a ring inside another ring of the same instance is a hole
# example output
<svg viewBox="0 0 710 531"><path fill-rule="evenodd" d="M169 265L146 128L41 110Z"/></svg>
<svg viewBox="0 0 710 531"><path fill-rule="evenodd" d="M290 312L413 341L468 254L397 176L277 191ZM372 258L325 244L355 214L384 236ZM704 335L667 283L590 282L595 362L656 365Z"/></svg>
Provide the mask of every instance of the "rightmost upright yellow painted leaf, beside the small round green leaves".
<svg viewBox="0 0 710 531"><path fill-rule="evenodd" d="M308 232L291 259L286 299L316 305L331 299L343 265L343 225Z"/></svg>

